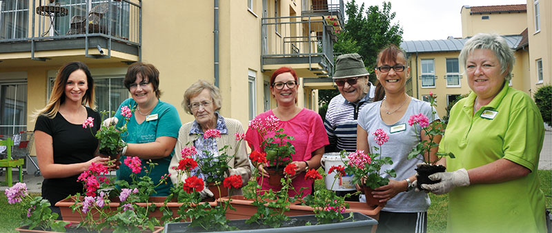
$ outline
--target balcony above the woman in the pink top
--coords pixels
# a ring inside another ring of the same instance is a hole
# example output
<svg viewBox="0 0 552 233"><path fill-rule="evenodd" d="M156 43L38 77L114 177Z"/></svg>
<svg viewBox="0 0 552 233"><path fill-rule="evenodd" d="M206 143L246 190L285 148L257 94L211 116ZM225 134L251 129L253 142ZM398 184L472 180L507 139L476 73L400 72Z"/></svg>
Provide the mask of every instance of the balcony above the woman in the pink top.
<svg viewBox="0 0 552 233"><path fill-rule="evenodd" d="M261 29L263 71L289 66L299 77L333 74L333 43L339 31L323 17L263 18Z"/></svg>

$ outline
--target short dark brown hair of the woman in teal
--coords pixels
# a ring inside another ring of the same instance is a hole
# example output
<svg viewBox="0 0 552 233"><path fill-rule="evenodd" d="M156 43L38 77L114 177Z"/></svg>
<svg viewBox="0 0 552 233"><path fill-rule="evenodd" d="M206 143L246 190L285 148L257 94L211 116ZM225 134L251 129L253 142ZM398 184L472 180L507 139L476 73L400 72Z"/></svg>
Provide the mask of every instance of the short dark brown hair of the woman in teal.
<svg viewBox="0 0 552 233"><path fill-rule="evenodd" d="M159 70L152 64L143 62L132 63L132 65L128 67L128 70L126 70L125 80L123 81L126 89L130 91L130 84L136 81L138 74L141 75L143 81L146 80L146 78L148 79L148 82L153 85L155 97L159 99L159 97L161 97L161 90L159 90Z"/></svg>

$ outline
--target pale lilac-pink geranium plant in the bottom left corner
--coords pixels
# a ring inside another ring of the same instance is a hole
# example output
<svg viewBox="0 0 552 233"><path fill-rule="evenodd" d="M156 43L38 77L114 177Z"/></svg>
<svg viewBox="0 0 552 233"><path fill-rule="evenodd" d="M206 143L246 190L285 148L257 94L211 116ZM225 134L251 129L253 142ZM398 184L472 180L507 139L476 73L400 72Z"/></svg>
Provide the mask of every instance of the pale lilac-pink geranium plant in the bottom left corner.
<svg viewBox="0 0 552 233"><path fill-rule="evenodd" d="M27 210L21 214L21 223L19 223L21 227L16 230L24 231L38 228L44 231L66 232L66 227L70 226L68 221L56 221L58 215L50 210L50 202L42 199L41 196L30 196L25 183L16 183L6 189L5 194L8 203L17 204L21 209Z"/></svg>

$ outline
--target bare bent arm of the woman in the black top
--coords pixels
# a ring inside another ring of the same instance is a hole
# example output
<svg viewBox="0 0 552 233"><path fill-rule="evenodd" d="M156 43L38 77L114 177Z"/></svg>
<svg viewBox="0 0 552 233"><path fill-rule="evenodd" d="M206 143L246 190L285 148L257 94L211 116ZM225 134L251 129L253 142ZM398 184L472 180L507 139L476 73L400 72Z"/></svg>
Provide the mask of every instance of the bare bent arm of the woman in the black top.
<svg viewBox="0 0 552 233"><path fill-rule="evenodd" d="M34 131L34 142L37 151L37 161L44 179L65 178L75 176L88 170L92 163L106 163L108 158L95 156L93 159L84 163L59 164L54 163L54 148L52 146L52 136L42 132Z"/></svg>

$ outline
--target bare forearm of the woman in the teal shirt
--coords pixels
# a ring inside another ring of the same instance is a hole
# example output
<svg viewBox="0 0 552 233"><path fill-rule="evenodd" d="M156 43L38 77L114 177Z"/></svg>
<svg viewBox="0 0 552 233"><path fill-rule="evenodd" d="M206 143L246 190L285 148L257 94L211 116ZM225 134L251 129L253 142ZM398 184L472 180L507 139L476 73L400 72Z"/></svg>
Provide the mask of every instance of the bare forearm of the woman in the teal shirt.
<svg viewBox="0 0 552 233"><path fill-rule="evenodd" d="M138 156L140 159L161 159L169 156L177 139L172 136L159 136L150 143L128 143L126 156Z"/></svg>

